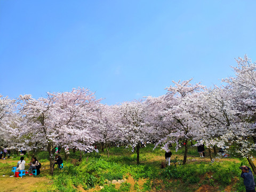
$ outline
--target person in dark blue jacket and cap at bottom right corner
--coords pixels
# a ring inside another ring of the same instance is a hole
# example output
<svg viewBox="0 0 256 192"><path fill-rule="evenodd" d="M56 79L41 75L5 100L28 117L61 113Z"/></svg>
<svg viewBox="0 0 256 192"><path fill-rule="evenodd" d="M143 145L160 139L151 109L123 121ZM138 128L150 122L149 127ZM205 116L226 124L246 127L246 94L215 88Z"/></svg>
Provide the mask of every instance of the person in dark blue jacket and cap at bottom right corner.
<svg viewBox="0 0 256 192"><path fill-rule="evenodd" d="M244 165L239 169L242 170L241 177L244 178L246 192L255 192L255 183L250 167Z"/></svg>

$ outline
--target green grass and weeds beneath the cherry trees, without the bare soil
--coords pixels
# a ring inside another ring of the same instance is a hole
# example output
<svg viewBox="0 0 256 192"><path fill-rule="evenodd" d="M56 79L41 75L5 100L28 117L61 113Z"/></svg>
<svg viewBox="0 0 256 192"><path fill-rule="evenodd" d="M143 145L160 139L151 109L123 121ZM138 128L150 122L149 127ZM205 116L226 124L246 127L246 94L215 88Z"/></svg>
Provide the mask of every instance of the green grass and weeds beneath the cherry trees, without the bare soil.
<svg viewBox="0 0 256 192"><path fill-rule="evenodd" d="M101 192L111 191L195 191L202 185L213 186L219 191L225 190L228 185L234 181L233 191L244 191L243 179L240 178L241 171L239 166L248 165L246 159L241 159L240 163L223 161L206 163L198 161L182 165L182 156L184 147L177 152L175 146L171 148L173 153L171 166L161 169L161 161L152 161L155 156L162 156L164 159L164 151L160 147L153 150L154 145L148 145L140 149L140 165L137 165L137 154L132 153L130 147L112 147L109 149L110 157L107 157L107 151L103 153L83 154L82 162L73 159L79 158L79 151L73 153L70 151L69 161L65 161L64 168L54 172L51 179L54 180L54 191L78 191L78 186L84 189L94 188L96 185L104 186ZM63 152L60 154L64 157ZM179 158L174 158L175 155ZM181 156L180 156L181 155ZM206 153L206 155L208 155ZM36 157L41 163L48 162L47 152L41 151ZM188 147L188 159L198 157L197 147ZM17 157L20 158L20 157ZM209 158L209 157L205 157ZM19 160L19 159L14 159ZM87 160L87 161L86 161ZM224 159L225 160L225 159ZM177 166L174 165L174 162ZM180 163L180 164L179 164ZM11 172L11 164L0 163L0 174ZM55 169L56 170L56 169ZM132 176L135 185L123 181L121 187L117 189L115 185L107 184L108 181L128 179ZM42 177L43 175L41 175ZM144 183L139 186L138 181L143 179ZM159 183L159 181L161 181ZM182 187L180 187L182 186Z"/></svg>

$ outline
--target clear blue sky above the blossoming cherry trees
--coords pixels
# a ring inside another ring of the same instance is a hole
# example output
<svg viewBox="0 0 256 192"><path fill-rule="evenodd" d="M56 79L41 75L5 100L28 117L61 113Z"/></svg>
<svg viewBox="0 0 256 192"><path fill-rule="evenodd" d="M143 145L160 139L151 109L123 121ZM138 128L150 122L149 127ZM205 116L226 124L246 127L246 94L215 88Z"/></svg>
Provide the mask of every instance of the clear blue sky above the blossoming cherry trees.
<svg viewBox="0 0 256 192"><path fill-rule="evenodd" d="M256 1L0 0L0 94L87 87L102 103L219 85L256 60Z"/></svg>

